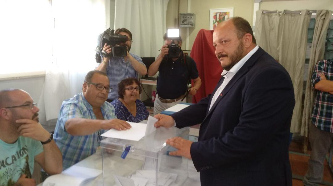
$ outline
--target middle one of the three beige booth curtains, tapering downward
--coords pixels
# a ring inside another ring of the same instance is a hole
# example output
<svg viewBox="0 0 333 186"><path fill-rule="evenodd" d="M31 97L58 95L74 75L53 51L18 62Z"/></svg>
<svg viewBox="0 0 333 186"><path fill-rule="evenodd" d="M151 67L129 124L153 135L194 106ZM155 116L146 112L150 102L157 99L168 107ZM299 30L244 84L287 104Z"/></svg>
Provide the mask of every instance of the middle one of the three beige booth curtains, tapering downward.
<svg viewBox="0 0 333 186"><path fill-rule="evenodd" d="M281 14L279 20L279 63L291 77L295 92L295 108L291 119L290 132L301 131L302 93L307 32L311 14L308 10L299 13Z"/></svg>

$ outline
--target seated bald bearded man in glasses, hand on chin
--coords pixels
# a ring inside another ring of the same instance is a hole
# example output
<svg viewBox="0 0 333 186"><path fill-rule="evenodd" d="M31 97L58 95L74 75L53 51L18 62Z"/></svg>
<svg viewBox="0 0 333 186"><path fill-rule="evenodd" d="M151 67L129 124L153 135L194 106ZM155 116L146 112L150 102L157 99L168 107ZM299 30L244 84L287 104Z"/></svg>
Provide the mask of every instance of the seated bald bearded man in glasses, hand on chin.
<svg viewBox="0 0 333 186"><path fill-rule="evenodd" d="M34 161L49 174L62 171L62 155L39 122L39 108L20 89L0 91L0 186L36 185Z"/></svg>

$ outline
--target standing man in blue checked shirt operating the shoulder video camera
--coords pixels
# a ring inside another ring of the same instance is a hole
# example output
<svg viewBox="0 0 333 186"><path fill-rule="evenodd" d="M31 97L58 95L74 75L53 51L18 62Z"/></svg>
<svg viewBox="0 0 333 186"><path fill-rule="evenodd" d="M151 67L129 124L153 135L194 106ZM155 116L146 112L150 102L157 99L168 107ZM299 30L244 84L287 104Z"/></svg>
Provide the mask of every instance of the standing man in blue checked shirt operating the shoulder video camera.
<svg viewBox="0 0 333 186"><path fill-rule="evenodd" d="M126 78L138 78L138 73L141 75L147 74L147 68L146 65L142 62L142 59L136 54L129 53L133 42L131 31L127 30L126 28L121 28L117 29L114 34L115 35L112 35L110 38L117 39L117 36L120 36L118 38L119 42L116 44L116 46L126 46L126 54L119 54L122 53L122 51L120 50L117 51L117 56L122 57L116 57L115 51L112 51L112 48L115 46L110 46L108 45L108 42L106 42L103 46L102 51L102 54L105 57L102 56L102 61L100 65L95 69L105 72L108 75L110 87L112 88L112 91L108 95L108 102L111 102L114 99L118 99L117 86L121 80ZM124 39L123 36L127 36L127 39ZM122 40L126 41L122 42Z"/></svg>

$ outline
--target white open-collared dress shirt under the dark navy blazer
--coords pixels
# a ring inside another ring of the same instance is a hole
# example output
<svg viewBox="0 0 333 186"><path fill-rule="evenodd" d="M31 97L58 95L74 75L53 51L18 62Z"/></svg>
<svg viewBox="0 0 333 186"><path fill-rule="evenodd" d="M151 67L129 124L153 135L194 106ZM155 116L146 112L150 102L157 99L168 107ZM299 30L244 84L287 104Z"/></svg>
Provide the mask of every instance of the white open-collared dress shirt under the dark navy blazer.
<svg viewBox="0 0 333 186"><path fill-rule="evenodd" d="M213 98L211 99L211 103L209 105L210 111L211 107L214 105L217 97L222 93L225 86L229 83L229 81L232 79L232 77L238 72L238 70L245 64L245 62L258 50L259 46L256 45L248 54L246 54L241 60L238 61L229 71L223 70L221 73L221 76L224 77L223 83L221 86L217 89L215 94L213 95Z"/></svg>

